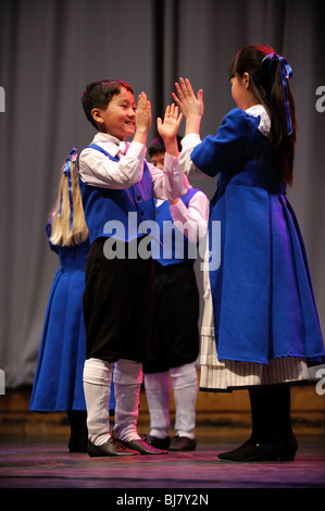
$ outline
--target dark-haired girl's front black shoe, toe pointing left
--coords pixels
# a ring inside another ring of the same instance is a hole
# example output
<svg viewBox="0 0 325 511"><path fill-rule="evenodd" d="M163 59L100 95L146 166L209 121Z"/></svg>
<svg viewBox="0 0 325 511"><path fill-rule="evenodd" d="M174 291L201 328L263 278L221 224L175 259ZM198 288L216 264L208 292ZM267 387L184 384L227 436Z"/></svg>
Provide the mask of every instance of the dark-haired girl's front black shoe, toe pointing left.
<svg viewBox="0 0 325 511"><path fill-rule="evenodd" d="M217 454L225 461L278 461L283 443L278 436L273 436L268 443L258 444L251 438L233 451Z"/></svg>

